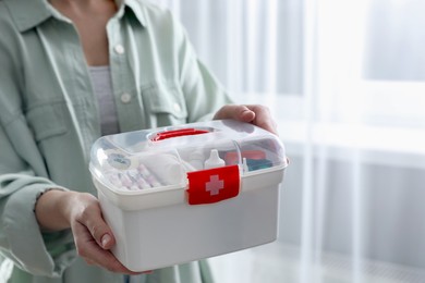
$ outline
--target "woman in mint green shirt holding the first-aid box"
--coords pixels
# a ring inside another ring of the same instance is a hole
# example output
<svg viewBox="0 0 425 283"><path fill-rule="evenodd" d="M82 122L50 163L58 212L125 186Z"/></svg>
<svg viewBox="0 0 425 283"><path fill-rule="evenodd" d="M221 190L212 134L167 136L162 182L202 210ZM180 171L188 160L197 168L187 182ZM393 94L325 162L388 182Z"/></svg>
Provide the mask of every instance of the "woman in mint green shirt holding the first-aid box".
<svg viewBox="0 0 425 283"><path fill-rule="evenodd" d="M171 14L142 0L0 1L0 250L10 282L124 282L87 170L100 135L236 119ZM214 114L215 113L215 114ZM205 262L132 276L208 282Z"/></svg>

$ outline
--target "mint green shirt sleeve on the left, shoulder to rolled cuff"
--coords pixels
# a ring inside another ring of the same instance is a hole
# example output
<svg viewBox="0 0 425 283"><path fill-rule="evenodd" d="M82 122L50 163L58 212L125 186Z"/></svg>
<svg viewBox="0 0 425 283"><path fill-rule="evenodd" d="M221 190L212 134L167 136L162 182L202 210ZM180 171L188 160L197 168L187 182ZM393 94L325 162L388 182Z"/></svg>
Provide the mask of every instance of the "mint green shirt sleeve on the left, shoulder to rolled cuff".
<svg viewBox="0 0 425 283"><path fill-rule="evenodd" d="M0 253L32 274L60 275L75 258L75 248L70 230L41 233L34 213L37 197L60 186L48 179L22 113L20 61L8 30L0 42L0 65L7 70L0 72Z"/></svg>

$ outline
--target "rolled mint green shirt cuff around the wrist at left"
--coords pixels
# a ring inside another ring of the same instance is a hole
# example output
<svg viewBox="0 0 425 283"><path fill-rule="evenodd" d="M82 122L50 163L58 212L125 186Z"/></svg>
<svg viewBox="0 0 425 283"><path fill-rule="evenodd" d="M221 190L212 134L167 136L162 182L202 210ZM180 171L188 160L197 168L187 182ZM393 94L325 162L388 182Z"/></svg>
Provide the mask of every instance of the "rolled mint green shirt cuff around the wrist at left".
<svg viewBox="0 0 425 283"><path fill-rule="evenodd" d="M4 207L3 229L10 258L35 275L59 276L75 258L70 230L41 233L34 207L51 184L33 184L12 194ZM61 189L61 188L59 188Z"/></svg>

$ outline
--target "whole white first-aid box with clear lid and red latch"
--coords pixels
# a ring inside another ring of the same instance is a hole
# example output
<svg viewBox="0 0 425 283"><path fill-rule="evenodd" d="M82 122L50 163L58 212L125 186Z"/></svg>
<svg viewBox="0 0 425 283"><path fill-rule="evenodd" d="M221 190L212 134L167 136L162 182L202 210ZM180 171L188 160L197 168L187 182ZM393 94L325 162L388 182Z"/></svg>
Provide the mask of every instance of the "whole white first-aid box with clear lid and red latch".
<svg viewBox="0 0 425 283"><path fill-rule="evenodd" d="M145 271L277 238L279 137L219 120L100 137L89 169L113 255Z"/></svg>

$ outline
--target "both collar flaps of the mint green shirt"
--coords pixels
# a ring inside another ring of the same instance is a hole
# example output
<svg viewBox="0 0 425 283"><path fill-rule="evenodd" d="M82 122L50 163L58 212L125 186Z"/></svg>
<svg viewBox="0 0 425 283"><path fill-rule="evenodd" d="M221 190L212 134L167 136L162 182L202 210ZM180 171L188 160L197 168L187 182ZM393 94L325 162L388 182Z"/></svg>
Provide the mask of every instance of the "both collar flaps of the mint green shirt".
<svg viewBox="0 0 425 283"><path fill-rule="evenodd" d="M138 0L114 0L119 7L119 16L122 16L125 7L129 7L137 21L146 26L146 15ZM53 16L54 10L47 0L4 0L20 32L33 28L47 19ZM120 14L121 13L121 14Z"/></svg>

